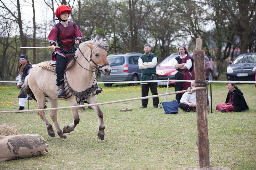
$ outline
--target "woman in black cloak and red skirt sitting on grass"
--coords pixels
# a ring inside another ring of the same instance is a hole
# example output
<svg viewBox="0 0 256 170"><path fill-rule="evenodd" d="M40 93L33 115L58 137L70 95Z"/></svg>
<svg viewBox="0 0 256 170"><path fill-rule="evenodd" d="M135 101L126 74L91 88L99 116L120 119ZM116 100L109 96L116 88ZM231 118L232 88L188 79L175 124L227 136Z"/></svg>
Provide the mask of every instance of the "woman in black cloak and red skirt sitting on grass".
<svg viewBox="0 0 256 170"><path fill-rule="evenodd" d="M249 107L243 97L243 93L235 85L235 83L226 83L229 93L227 95L226 103L218 103L216 110L220 112L230 112L230 111L245 111Z"/></svg>

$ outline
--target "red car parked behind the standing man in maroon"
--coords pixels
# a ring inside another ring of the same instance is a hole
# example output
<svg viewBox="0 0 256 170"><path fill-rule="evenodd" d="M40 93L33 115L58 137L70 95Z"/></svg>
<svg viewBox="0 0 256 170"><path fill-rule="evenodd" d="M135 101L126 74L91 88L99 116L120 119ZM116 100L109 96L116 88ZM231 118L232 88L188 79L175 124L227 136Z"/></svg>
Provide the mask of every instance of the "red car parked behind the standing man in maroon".
<svg viewBox="0 0 256 170"><path fill-rule="evenodd" d="M157 80L167 80L168 78L170 80L175 80L175 74L177 70L173 67L173 62L175 60L175 57L177 57L179 54L173 53L169 57L165 58L162 62L160 62L156 66L156 74L159 75ZM190 52L191 57L193 57L193 53ZM195 62L194 62L195 67ZM192 79L195 80L195 71L191 72ZM219 73L217 72L217 65L214 64L209 60L207 55L205 55L205 77L206 80L212 80L215 78L216 80L219 77ZM167 85L167 81L164 82L157 82L158 85ZM175 84L174 81L169 81L169 84Z"/></svg>

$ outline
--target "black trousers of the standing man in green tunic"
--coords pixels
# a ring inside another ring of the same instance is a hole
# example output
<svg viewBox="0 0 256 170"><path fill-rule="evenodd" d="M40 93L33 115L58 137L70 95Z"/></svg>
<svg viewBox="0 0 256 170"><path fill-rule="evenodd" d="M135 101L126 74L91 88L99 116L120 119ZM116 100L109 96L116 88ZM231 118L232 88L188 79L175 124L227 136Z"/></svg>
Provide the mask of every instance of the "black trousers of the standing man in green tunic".
<svg viewBox="0 0 256 170"><path fill-rule="evenodd" d="M142 84L141 85L141 97L148 96L148 90L150 88L150 91L152 95L157 95L157 84L156 83L147 83L147 84ZM142 106L147 107L148 104L148 99L142 99ZM158 106L159 104L159 98L155 97L153 98L153 105Z"/></svg>

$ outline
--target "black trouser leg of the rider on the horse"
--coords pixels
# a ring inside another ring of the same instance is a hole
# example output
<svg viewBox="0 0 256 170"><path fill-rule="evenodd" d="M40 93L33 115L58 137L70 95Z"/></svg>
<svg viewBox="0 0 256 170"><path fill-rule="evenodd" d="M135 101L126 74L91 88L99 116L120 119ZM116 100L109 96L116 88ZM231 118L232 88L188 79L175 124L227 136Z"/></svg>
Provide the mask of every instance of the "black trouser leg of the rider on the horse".
<svg viewBox="0 0 256 170"><path fill-rule="evenodd" d="M57 65L56 65L56 73L57 73L57 86L61 86L62 85L62 80L63 79L63 75L64 75L64 71L65 71L65 67L66 67L66 63L67 60L65 57L56 54L56 58L57 58Z"/></svg>

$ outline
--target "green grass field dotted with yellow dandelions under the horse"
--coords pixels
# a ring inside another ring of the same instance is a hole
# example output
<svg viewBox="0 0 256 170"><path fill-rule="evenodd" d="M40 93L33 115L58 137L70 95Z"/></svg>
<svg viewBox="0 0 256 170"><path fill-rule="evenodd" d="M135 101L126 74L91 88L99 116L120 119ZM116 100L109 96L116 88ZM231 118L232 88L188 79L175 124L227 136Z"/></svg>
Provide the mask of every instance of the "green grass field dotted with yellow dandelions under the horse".
<svg viewBox="0 0 256 170"><path fill-rule="evenodd" d="M228 90L225 83L212 83L213 114L208 114L210 164L237 170L255 169L256 89L254 84L236 85L244 93L249 110L221 113L215 107L225 101ZM101 86L103 92L97 95L99 102L141 97L140 85ZM17 110L19 90L16 86L2 86L0 90L0 110ZM168 92L174 91L174 87L169 87ZM159 94L165 92L166 87L158 87ZM168 96L168 101L174 99L175 95ZM160 97L160 102L163 101L165 96ZM67 101L59 101L59 107L65 106L69 106ZM0 169L181 170L198 167L196 113L179 110L177 115L164 114L163 109L153 108L152 99L146 109L138 109L140 106L140 100L100 106L105 124L103 141L97 137L98 119L91 109L79 112L80 123L67 134L67 139L49 137L36 112L0 113L0 124L17 125L21 134L39 134L50 145L44 156L2 161ZM132 111L120 112L122 108ZM33 100L30 109L37 109ZM51 122L49 111L46 116ZM59 110L58 119L61 128L71 124L71 111Z"/></svg>

